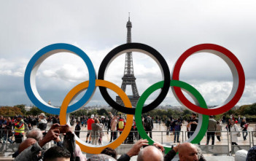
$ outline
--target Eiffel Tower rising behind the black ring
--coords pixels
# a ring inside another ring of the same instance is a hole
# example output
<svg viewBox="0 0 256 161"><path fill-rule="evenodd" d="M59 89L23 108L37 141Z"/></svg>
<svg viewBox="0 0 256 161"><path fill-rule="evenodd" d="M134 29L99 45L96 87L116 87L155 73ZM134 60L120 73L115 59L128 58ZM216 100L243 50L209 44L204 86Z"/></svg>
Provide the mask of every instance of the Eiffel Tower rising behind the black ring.
<svg viewBox="0 0 256 161"><path fill-rule="evenodd" d="M130 13L129 13L129 19L126 24L127 28L127 43L131 43L131 21L130 21ZM136 78L133 73L133 55L132 52L127 52L125 54L125 72L123 75L123 82L121 85L121 89L125 92L126 86L131 85L131 90L133 92L133 95L128 95L128 98L131 101L131 104L133 107L136 107L137 102L139 101L139 93L136 86ZM118 104L124 106L123 101L119 96L116 97L116 101Z"/></svg>

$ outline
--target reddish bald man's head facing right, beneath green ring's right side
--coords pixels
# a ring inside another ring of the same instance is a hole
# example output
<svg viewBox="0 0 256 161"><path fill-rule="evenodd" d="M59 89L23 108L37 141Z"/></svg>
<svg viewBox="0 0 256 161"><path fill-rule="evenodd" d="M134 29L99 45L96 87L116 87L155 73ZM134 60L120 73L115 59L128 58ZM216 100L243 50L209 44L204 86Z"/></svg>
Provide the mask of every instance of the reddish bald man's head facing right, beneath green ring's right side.
<svg viewBox="0 0 256 161"><path fill-rule="evenodd" d="M180 161L198 160L198 149L193 144L190 144L190 143L180 144L178 151L179 151Z"/></svg>

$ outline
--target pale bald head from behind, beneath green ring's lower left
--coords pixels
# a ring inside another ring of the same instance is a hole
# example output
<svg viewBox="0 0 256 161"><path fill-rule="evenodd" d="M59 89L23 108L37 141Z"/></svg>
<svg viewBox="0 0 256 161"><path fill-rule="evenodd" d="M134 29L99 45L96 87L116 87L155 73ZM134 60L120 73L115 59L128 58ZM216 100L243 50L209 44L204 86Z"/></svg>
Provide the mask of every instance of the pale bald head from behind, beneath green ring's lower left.
<svg viewBox="0 0 256 161"><path fill-rule="evenodd" d="M143 160L162 161L163 152L161 152L160 149L156 148L155 146L147 146L139 152L137 157L137 161Z"/></svg>

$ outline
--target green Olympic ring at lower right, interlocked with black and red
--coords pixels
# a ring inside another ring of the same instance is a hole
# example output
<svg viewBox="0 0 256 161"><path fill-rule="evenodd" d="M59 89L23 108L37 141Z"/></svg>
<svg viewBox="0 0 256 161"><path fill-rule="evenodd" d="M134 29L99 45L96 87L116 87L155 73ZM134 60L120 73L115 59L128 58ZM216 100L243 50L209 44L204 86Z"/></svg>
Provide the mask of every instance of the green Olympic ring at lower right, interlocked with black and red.
<svg viewBox="0 0 256 161"><path fill-rule="evenodd" d="M197 106L201 106L203 109L207 109L206 102L203 99L203 96L198 92L198 90L195 90L194 87L191 85L188 85L185 82L178 81L178 80L171 80L170 86L174 87L181 87L185 92L189 93L192 97ZM141 112L142 108L144 106L145 101L147 98L155 92L155 90L158 90L163 87L163 81L157 82L154 85L150 86L145 90L145 92L141 95L139 98L139 101L136 106L136 111L135 111L135 122L136 122L136 127L138 129L139 135L141 138L147 139L149 141L149 145L154 144L155 141L153 141L150 136L147 136L146 131L144 130L144 126L142 125L142 120L141 120ZM204 114L199 114L198 117L202 117L202 119L198 119L198 126L195 129L195 132L193 133L193 136L191 136L187 142L190 142L192 144L198 144L202 139L203 136L205 135L209 123L209 116L204 115ZM171 150L171 148L164 146L166 154Z"/></svg>

